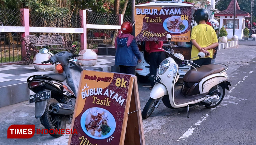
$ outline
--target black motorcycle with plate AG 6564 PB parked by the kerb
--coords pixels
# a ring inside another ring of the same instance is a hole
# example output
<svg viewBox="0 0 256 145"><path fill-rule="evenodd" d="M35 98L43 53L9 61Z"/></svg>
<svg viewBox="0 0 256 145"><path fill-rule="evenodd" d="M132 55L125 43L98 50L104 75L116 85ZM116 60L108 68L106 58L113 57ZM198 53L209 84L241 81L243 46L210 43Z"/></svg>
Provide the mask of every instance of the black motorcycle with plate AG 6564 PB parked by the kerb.
<svg viewBox="0 0 256 145"><path fill-rule="evenodd" d="M48 53L48 49L43 48L39 52ZM77 56L67 51L58 52L42 64L60 63L63 73L34 75L27 80L28 88L35 93L29 96L29 102L35 102L35 118L40 118L41 124L56 138L62 134L57 134L55 130L66 129L66 117L69 117L71 123L74 113L83 70L80 65L72 61Z"/></svg>

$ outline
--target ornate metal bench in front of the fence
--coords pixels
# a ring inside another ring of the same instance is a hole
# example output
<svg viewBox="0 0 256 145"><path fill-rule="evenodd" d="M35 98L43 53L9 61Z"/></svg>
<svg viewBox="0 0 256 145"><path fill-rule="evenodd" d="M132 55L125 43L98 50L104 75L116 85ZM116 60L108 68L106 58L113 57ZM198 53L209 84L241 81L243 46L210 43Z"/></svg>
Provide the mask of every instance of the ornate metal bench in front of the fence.
<svg viewBox="0 0 256 145"><path fill-rule="evenodd" d="M25 37L20 37L21 42L25 42L26 46L26 57L22 59L24 64L32 64L34 56L39 52L42 46L48 47L49 51L54 50L64 50L70 53L76 52L76 46L78 46L77 41L66 41L66 39L61 36L54 34L40 35L39 37L35 35L27 35ZM77 43L77 45L73 45Z"/></svg>

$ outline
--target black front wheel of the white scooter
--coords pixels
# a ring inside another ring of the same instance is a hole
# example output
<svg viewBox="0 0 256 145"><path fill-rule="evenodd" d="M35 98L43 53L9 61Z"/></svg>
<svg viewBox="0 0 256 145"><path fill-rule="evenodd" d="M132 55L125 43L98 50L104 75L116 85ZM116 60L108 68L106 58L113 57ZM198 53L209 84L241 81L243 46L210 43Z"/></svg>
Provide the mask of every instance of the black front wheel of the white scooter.
<svg viewBox="0 0 256 145"><path fill-rule="evenodd" d="M148 99L141 113L141 116L143 119L148 118L153 113L153 111L155 110L155 105L157 104L157 100L158 99L152 99L152 98Z"/></svg>

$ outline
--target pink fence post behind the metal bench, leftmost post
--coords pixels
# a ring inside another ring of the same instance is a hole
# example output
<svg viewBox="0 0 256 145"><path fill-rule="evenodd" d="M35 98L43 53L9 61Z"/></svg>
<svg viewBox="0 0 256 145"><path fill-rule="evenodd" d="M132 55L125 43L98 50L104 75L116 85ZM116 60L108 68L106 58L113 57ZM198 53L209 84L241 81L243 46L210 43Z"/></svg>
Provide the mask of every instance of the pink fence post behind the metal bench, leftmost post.
<svg viewBox="0 0 256 145"><path fill-rule="evenodd" d="M25 27L24 33L22 33L22 37L25 37L29 35L29 9L20 9L20 14L21 14L21 23L22 26ZM22 48L22 59L26 57L26 46L25 42L23 41L21 43L21 48Z"/></svg>

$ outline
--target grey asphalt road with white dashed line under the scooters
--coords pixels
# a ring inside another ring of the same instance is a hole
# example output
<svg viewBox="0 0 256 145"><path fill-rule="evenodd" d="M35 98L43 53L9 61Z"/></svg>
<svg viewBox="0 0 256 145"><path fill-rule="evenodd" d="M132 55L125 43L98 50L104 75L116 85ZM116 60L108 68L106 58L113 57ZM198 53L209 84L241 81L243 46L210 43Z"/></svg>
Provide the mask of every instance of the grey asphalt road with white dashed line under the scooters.
<svg viewBox="0 0 256 145"><path fill-rule="evenodd" d="M151 117L143 120L147 145L170 144L255 144L256 143L256 46L239 46L218 51L217 63L229 65L227 74L232 85L223 102L216 108L191 107L168 109L163 104ZM139 84L141 107L149 98L149 83ZM7 139L7 128L12 124L35 124L34 106L27 101L0 108L0 144L67 144L68 136L33 136L31 139ZM70 127L68 125L67 127Z"/></svg>

